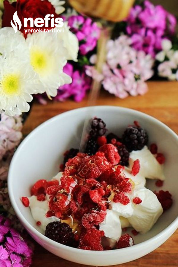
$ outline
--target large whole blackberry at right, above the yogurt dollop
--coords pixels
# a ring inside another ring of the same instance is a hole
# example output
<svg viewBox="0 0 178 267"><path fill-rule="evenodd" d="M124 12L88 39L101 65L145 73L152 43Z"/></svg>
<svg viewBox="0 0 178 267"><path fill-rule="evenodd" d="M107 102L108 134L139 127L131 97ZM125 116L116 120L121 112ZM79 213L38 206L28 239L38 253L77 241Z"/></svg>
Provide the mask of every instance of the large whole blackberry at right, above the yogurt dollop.
<svg viewBox="0 0 178 267"><path fill-rule="evenodd" d="M141 150L148 143L148 134L141 128L136 126L129 126L123 133L123 144L127 150Z"/></svg>

